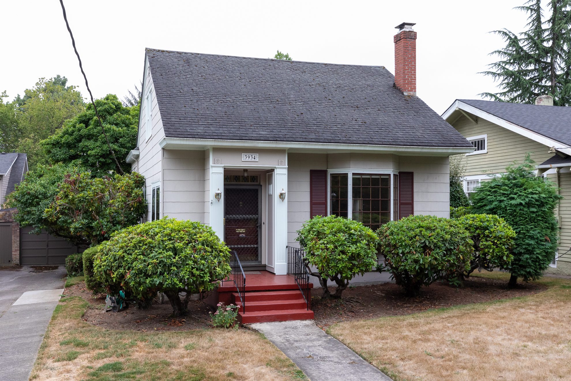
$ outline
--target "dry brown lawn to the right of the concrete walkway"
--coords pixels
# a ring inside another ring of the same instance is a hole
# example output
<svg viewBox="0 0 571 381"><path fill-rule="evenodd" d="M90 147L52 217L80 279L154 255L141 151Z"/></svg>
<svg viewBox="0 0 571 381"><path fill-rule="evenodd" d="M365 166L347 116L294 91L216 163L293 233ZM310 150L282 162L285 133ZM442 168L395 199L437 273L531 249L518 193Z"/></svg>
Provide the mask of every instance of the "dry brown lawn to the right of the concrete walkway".
<svg viewBox="0 0 571 381"><path fill-rule="evenodd" d="M505 278L509 274L482 274ZM545 292L342 322L328 333L395 380L571 380L571 281ZM506 283L507 284L507 283Z"/></svg>

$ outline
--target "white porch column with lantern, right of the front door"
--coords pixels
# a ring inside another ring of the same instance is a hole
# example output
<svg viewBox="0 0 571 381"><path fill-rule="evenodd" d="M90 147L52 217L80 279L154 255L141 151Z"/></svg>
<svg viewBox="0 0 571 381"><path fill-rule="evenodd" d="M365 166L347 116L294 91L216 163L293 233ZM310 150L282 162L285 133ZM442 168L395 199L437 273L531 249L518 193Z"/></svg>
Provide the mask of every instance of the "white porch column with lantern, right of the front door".
<svg viewBox="0 0 571 381"><path fill-rule="evenodd" d="M286 199L280 200L280 192ZM274 269L276 275L287 274L287 167L276 167L274 179Z"/></svg>

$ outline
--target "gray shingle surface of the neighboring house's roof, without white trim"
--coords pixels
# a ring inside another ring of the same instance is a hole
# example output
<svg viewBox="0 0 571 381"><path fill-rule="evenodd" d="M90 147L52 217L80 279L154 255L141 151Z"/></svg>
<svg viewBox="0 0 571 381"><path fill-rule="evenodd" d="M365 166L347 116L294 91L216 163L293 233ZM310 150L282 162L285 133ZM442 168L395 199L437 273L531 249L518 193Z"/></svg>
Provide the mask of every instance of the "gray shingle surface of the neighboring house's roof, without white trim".
<svg viewBox="0 0 571 381"><path fill-rule="evenodd" d="M514 125L571 145L571 107L458 99Z"/></svg>

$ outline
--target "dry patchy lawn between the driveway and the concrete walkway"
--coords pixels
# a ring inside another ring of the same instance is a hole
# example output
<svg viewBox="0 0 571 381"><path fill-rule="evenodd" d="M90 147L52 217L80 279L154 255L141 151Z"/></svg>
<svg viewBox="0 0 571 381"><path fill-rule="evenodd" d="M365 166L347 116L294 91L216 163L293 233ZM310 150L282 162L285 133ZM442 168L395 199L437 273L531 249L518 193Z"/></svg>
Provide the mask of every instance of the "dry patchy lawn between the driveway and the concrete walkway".
<svg viewBox="0 0 571 381"><path fill-rule="evenodd" d="M87 303L61 299L44 336L34 380L271 380L307 379L256 332L107 330L81 320Z"/></svg>

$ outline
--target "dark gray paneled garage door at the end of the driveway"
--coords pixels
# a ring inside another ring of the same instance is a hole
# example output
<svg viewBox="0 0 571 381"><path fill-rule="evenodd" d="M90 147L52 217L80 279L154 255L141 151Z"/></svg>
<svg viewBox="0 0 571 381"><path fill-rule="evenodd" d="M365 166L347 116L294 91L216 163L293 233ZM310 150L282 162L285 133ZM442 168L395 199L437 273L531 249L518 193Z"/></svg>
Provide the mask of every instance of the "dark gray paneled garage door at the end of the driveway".
<svg viewBox="0 0 571 381"><path fill-rule="evenodd" d="M43 232L29 234L31 227L20 229L20 264L65 264L66 256L78 252L63 238Z"/></svg>

